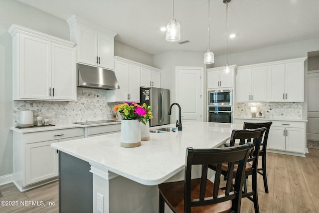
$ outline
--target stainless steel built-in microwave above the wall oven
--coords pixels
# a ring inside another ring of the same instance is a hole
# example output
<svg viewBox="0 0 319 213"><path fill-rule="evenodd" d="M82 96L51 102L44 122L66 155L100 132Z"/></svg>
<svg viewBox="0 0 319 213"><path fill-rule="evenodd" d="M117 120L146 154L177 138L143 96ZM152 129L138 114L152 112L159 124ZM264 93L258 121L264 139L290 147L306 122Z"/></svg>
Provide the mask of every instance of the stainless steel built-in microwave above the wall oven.
<svg viewBox="0 0 319 213"><path fill-rule="evenodd" d="M208 91L208 105L233 105L233 94L230 89Z"/></svg>

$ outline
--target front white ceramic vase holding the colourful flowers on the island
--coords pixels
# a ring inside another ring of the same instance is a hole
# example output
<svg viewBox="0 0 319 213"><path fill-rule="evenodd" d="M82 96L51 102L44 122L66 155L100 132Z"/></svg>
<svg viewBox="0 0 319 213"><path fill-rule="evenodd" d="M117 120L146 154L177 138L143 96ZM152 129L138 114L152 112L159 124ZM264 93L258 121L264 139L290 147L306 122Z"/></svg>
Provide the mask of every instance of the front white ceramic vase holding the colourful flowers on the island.
<svg viewBox="0 0 319 213"><path fill-rule="evenodd" d="M141 146L141 126L139 120L121 120L121 147Z"/></svg>

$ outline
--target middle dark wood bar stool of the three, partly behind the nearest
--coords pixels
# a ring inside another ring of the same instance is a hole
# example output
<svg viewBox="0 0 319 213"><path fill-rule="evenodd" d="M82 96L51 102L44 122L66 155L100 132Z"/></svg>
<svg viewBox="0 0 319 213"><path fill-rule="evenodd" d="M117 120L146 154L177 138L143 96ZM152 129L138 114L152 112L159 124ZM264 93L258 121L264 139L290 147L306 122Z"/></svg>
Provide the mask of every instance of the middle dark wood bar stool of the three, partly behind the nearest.
<svg viewBox="0 0 319 213"><path fill-rule="evenodd" d="M255 213L259 213L259 205L258 205L258 191L257 191L257 169L258 169L258 156L260 152L260 146L262 137L266 131L266 127L258 128L258 129L248 129L248 130L233 130L230 138L230 147L235 146L235 141L239 140L239 146L245 143L252 143L255 145L254 149L251 151L247 164L245 165L245 177L252 176L252 191L251 192L243 192L242 198L248 198L254 203ZM236 146L235 146L236 147ZM217 170L217 165L209 164L208 167L214 171ZM221 175L226 177L228 181L227 174L229 170L232 168L227 164L222 164ZM233 178L235 178L237 173L237 167L233 168Z"/></svg>

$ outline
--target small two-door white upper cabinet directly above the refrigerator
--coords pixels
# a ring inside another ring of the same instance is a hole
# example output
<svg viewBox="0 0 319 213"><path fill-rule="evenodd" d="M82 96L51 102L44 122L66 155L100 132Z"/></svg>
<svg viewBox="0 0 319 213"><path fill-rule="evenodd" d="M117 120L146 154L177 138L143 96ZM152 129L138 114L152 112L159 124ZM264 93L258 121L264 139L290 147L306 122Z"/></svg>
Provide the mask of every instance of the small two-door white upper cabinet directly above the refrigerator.
<svg viewBox="0 0 319 213"><path fill-rule="evenodd" d="M141 87L160 87L160 71L141 66Z"/></svg>

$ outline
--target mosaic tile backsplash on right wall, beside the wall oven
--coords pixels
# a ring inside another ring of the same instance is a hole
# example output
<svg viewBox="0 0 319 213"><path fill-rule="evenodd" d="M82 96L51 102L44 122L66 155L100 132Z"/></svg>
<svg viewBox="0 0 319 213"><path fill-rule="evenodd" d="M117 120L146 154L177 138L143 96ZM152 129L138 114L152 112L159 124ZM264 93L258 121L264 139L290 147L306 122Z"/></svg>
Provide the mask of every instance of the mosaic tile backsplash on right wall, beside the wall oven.
<svg viewBox="0 0 319 213"><path fill-rule="evenodd" d="M235 118L251 118L251 106L257 107L256 116L259 112L265 118L273 119L302 119L303 103L235 103Z"/></svg>

